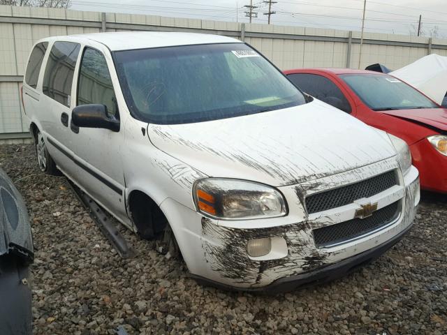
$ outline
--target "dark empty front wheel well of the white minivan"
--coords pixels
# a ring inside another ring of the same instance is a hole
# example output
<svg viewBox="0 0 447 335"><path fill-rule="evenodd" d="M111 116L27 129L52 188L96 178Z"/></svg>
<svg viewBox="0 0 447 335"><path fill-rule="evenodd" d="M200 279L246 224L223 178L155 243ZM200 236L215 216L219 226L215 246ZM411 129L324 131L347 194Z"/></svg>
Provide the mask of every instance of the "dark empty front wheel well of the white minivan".
<svg viewBox="0 0 447 335"><path fill-rule="evenodd" d="M168 225L160 207L142 191L132 191L129 195L129 211L138 234L145 239L155 239Z"/></svg>

